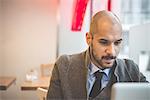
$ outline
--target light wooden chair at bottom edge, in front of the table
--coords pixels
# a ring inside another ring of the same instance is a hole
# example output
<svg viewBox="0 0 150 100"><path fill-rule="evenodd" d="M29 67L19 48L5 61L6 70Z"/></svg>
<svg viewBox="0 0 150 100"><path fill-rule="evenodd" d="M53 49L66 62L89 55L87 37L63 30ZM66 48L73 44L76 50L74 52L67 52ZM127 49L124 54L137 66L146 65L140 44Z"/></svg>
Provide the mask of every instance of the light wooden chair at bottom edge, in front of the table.
<svg viewBox="0 0 150 100"><path fill-rule="evenodd" d="M48 90L43 89L43 88L37 88L37 95L40 100L46 100L46 95L47 95Z"/></svg>

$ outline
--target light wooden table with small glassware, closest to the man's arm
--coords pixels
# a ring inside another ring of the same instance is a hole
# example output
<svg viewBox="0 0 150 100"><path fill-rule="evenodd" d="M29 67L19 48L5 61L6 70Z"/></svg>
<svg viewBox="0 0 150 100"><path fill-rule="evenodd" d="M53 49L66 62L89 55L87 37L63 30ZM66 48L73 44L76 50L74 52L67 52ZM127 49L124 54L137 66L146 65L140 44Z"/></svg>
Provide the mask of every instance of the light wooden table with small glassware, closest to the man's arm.
<svg viewBox="0 0 150 100"><path fill-rule="evenodd" d="M24 81L21 85L21 90L36 90L38 87L48 88L50 77L40 77L34 81Z"/></svg>

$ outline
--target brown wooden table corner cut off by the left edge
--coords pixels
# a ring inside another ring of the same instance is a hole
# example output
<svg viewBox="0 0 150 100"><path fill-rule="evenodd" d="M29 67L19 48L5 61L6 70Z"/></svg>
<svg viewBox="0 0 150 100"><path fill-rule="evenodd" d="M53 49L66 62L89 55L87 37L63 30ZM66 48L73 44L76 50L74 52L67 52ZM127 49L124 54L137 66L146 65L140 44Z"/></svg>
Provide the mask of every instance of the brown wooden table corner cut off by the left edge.
<svg viewBox="0 0 150 100"><path fill-rule="evenodd" d="M0 90L7 90L7 88L14 83L15 77L0 76Z"/></svg>

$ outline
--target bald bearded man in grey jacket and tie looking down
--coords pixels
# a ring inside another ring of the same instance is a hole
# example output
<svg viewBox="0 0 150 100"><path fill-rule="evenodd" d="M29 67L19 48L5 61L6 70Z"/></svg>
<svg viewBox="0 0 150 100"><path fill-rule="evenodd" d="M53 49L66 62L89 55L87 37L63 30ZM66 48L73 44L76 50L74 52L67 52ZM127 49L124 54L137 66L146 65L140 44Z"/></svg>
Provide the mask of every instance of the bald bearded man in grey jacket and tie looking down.
<svg viewBox="0 0 150 100"><path fill-rule="evenodd" d="M131 60L118 59L122 26L109 11L96 13L86 34L89 48L56 61L48 100L110 100L116 82L147 82Z"/></svg>

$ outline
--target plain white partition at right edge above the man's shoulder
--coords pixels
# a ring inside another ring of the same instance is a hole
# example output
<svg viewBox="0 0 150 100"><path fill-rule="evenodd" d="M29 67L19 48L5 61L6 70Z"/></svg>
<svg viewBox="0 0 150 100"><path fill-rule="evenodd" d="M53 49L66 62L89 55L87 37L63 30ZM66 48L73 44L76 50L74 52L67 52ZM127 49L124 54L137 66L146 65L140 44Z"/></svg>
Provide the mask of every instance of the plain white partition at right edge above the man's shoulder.
<svg viewBox="0 0 150 100"><path fill-rule="evenodd" d="M137 25L129 30L129 57L137 64L141 51L150 51L150 24Z"/></svg>

